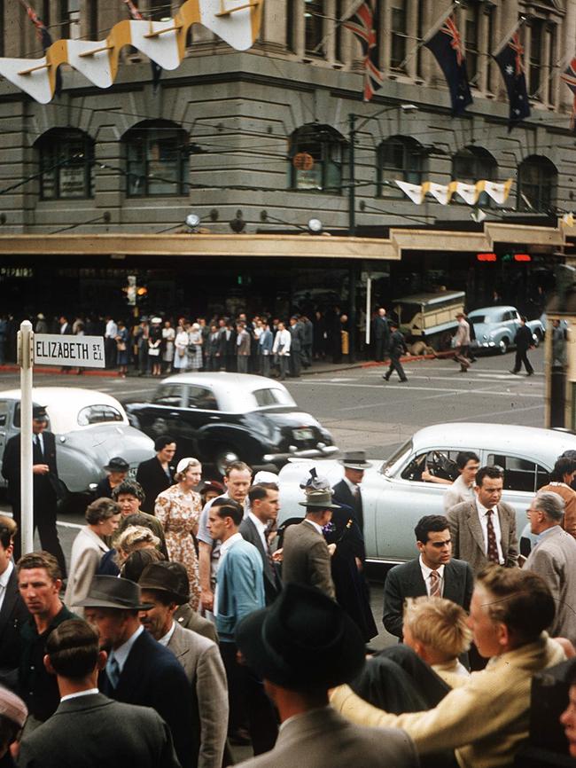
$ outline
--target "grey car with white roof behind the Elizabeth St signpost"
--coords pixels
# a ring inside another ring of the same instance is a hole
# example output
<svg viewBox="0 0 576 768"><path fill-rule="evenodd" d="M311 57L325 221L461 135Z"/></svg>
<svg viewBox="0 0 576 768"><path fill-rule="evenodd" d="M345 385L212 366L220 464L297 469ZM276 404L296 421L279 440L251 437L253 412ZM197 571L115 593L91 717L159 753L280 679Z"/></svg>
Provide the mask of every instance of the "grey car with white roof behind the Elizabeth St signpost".
<svg viewBox="0 0 576 768"><path fill-rule="evenodd" d="M136 477L141 461L154 455L154 443L128 424L126 411L114 397L95 389L39 387L34 403L44 405L56 435L58 476L70 493L83 493L105 477L103 467L121 456ZM0 461L4 446L20 428L20 392L0 392ZM0 484L5 485L0 475Z"/></svg>

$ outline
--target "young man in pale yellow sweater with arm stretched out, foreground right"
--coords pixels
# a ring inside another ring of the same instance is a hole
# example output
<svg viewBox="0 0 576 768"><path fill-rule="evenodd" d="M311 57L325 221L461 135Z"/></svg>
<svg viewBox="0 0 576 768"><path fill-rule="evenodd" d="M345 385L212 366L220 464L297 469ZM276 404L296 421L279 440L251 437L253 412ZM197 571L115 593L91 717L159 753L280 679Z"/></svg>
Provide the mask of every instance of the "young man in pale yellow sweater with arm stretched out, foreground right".
<svg viewBox="0 0 576 768"><path fill-rule="evenodd" d="M423 712L389 714L348 686L332 694L332 706L359 725L403 729L420 756L455 749L462 768L510 766L528 739L533 674L565 658L545 631L554 610L540 576L490 565L478 576L469 618L479 653L491 660L486 670Z"/></svg>

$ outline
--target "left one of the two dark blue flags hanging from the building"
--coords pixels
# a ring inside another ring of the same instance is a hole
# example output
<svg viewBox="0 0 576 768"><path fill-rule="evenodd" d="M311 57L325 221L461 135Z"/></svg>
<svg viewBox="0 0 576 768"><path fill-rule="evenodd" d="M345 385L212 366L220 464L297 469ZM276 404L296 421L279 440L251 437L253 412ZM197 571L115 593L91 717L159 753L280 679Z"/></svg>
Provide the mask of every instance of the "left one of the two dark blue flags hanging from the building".
<svg viewBox="0 0 576 768"><path fill-rule="evenodd" d="M440 29L424 41L424 45L432 51L444 73L450 90L452 114L463 114L466 107L472 104L473 99L466 71L462 37L454 17L448 16Z"/></svg>

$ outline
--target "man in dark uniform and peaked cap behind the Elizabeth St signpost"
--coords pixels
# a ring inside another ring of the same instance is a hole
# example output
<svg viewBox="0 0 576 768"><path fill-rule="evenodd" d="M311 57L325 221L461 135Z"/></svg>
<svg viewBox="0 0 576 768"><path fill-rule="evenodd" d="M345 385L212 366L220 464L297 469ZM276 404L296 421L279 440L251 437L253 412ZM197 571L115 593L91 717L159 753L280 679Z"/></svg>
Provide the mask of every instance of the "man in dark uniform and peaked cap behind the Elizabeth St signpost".
<svg viewBox="0 0 576 768"><path fill-rule="evenodd" d="M38 529L40 543L58 560L62 576L66 578L66 559L56 529L58 503L58 467L56 465L56 440L48 432L48 413L43 405L32 408L32 483L34 528ZM20 529L20 444L21 435L10 438L4 449L2 474L8 481L8 498L12 504L14 521ZM14 537L14 558L22 553L19 531Z"/></svg>

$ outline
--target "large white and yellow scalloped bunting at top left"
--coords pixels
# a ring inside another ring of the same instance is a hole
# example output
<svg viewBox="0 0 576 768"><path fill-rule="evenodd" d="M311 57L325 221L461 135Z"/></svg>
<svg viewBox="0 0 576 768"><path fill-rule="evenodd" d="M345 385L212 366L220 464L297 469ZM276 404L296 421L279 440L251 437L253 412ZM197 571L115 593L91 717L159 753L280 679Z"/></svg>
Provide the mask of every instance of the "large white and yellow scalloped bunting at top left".
<svg viewBox="0 0 576 768"><path fill-rule="evenodd" d="M109 88L126 45L162 69L179 67L192 24L206 27L237 51L247 51L260 34L263 4L264 0L186 0L168 21L119 21L105 40L57 40L42 59L0 58L0 74L40 104L53 98L62 64L74 67L97 88Z"/></svg>

